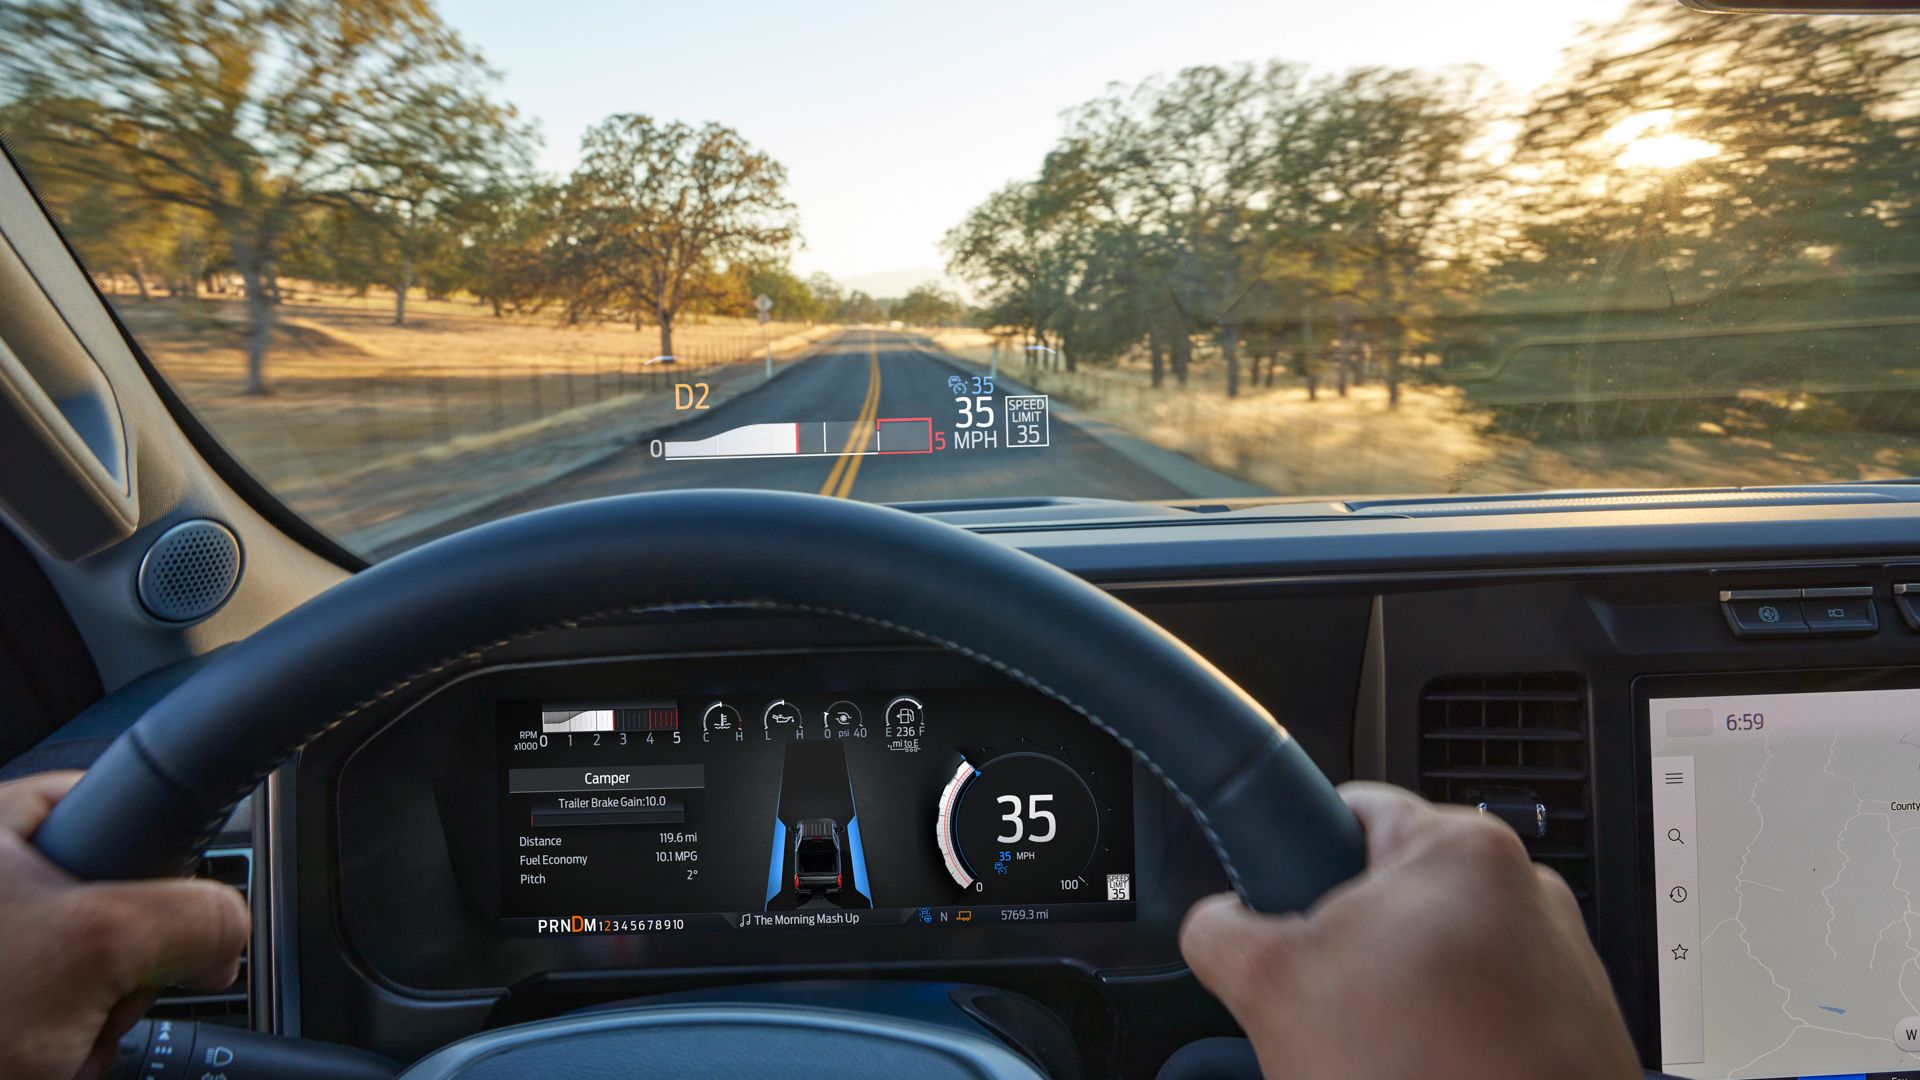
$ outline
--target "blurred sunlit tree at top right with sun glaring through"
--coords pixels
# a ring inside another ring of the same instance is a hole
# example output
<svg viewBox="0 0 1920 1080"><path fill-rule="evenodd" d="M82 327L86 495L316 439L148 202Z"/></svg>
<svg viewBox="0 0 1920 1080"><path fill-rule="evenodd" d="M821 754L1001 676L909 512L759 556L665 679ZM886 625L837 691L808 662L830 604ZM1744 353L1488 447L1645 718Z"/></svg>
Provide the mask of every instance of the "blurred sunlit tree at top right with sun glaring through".
<svg viewBox="0 0 1920 1080"><path fill-rule="evenodd" d="M1521 119L1501 271L1676 306L1770 269L1910 261L1916 92L1903 19L1726 25L1638 0Z"/></svg>

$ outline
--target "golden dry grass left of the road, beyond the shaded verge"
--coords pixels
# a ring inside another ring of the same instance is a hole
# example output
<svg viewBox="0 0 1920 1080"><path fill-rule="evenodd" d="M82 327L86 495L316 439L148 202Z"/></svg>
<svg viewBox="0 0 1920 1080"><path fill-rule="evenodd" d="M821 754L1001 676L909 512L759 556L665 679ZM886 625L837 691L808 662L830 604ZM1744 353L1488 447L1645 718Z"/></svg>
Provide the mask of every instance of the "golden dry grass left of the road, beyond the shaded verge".
<svg viewBox="0 0 1920 1080"><path fill-rule="evenodd" d="M392 300L296 290L267 356L267 396L246 394L244 311L236 300L115 306L134 336L213 432L275 488L632 394L672 394L695 371L762 357L749 319L674 329L680 363L645 363L655 329L566 327L492 317L463 302L413 302L405 327ZM820 331L766 327L776 356Z"/></svg>

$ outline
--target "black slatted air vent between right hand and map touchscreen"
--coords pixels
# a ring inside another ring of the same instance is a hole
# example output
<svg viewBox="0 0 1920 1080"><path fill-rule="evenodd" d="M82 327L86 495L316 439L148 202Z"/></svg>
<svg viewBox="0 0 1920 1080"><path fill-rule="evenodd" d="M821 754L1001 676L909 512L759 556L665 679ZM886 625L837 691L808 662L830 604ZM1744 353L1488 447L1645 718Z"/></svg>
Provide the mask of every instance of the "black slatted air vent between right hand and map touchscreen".
<svg viewBox="0 0 1920 1080"><path fill-rule="evenodd" d="M1482 807L1559 871L1594 928L1586 682L1576 675L1436 678L1421 694L1421 794Z"/></svg>

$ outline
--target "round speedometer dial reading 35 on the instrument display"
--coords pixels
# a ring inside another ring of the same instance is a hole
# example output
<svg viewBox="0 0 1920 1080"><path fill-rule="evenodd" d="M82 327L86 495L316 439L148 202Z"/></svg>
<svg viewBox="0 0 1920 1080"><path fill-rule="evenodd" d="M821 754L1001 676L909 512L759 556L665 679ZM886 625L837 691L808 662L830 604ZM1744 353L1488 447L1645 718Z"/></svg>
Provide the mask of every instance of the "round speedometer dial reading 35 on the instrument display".
<svg viewBox="0 0 1920 1080"><path fill-rule="evenodd" d="M960 759L941 788L941 863L970 892L1006 901L1075 888L1100 849L1100 803L1077 769L1020 749L983 765Z"/></svg>

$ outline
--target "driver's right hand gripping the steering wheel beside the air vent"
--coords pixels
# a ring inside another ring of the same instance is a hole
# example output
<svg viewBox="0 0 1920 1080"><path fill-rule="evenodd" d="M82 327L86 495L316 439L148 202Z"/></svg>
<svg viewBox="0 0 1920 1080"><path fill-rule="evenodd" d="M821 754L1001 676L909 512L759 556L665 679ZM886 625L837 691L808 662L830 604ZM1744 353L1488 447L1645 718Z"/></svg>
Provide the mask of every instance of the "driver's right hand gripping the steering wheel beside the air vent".
<svg viewBox="0 0 1920 1080"><path fill-rule="evenodd" d="M1306 915L1202 899L1181 928L1269 1080L1642 1076L1580 907L1519 836L1400 788L1346 784L1367 871Z"/></svg>

